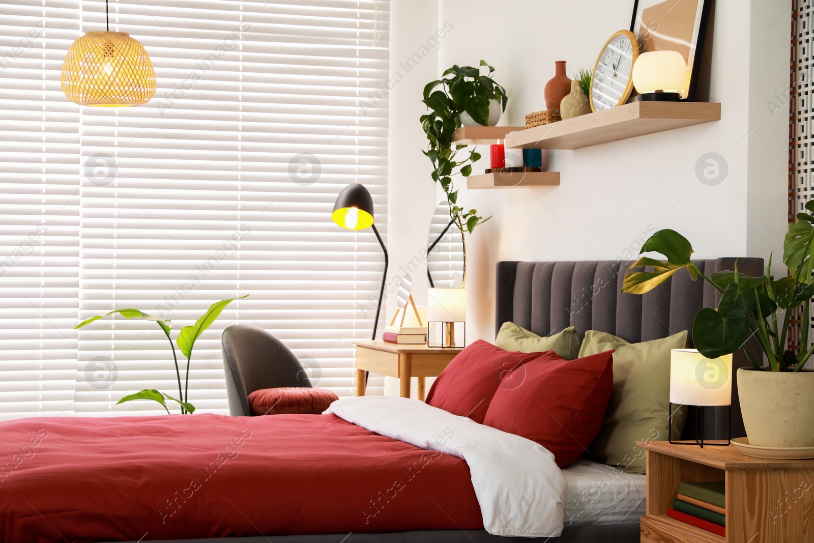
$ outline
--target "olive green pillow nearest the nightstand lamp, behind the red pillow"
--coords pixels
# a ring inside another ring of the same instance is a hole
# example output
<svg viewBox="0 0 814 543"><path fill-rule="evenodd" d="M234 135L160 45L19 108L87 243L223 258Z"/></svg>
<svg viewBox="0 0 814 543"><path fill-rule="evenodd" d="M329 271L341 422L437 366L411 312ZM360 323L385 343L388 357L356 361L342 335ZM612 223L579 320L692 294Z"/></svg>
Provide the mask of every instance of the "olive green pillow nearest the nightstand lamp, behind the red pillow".
<svg viewBox="0 0 814 543"><path fill-rule="evenodd" d="M636 442L668 439L670 351L686 346L686 331L639 344L606 332L585 332L580 358L615 349L613 392L605 422L585 458L618 466L628 473L645 472L645 453ZM676 439L684 428L686 414L686 408L681 407L672 418Z"/></svg>

